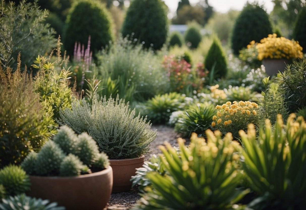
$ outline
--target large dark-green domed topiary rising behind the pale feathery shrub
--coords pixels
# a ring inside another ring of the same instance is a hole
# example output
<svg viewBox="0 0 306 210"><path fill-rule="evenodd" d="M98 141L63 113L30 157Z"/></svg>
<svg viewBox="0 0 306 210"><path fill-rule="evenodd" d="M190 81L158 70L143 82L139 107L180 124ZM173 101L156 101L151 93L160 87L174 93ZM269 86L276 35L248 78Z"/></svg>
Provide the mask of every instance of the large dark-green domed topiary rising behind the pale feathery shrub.
<svg viewBox="0 0 306 210"><path fill-rule="evenodd" d="M126 12L122 36L132 36L144 47L159 50L166 42L168 19L161 0L134 0Z"/></svg>

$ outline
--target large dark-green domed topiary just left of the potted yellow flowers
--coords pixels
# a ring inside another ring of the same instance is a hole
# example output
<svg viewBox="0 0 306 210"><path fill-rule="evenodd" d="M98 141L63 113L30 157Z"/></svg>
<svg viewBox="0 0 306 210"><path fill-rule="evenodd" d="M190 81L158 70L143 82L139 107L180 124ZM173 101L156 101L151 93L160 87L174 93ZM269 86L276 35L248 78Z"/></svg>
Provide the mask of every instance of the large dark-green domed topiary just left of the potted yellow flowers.
<svg viewBox="0 0 306 210"><path fill-rule="evenodd" d="M231 44L233 53L246 47L252 40L259 42L272 34L272 27L267 12L258 3L247 3L237 17L233 28Z"/></svg>

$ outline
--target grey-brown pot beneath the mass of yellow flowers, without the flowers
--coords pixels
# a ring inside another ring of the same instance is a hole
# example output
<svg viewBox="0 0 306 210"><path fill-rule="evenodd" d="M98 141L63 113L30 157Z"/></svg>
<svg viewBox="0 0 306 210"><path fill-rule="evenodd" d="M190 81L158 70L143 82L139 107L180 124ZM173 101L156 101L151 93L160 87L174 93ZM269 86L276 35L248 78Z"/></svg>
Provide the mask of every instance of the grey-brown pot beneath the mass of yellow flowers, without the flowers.
<svg viewBox="0 0 306 210"><path fill-rule="evenodd" d="M276 75L278 71L284 72L289 63L289 60L286 59L263 59L263 66L269 76Z"/></svg>

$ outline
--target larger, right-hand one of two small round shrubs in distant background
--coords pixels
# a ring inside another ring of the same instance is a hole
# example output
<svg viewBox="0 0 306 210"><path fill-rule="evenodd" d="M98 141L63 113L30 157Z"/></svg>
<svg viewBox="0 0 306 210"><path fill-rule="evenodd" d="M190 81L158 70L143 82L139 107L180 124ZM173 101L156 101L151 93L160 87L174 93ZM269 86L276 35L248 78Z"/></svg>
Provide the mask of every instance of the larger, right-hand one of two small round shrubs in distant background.
<svg viewBox="0 0 306 210"><path fill-rule="evenodd" d="M191 23L188 25L187 31L185 32L185 43L190 48L197 48L202 40L200 32L200 25Z"/></svg>

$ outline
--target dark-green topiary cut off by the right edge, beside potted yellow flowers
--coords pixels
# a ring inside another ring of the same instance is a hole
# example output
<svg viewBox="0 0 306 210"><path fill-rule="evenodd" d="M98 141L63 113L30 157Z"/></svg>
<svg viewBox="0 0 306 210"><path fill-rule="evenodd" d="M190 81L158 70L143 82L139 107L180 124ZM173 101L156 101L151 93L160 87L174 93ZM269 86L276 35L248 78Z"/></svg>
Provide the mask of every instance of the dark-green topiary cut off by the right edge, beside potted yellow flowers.
<svg viewBox="0 0 306 210"><path fill-rule="evenodd" d="M306 7L300 10L297 15L297 21L293 30L293 39L298 41L306 53Z"/></svg>

